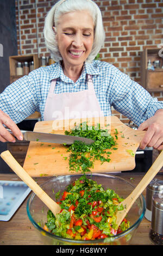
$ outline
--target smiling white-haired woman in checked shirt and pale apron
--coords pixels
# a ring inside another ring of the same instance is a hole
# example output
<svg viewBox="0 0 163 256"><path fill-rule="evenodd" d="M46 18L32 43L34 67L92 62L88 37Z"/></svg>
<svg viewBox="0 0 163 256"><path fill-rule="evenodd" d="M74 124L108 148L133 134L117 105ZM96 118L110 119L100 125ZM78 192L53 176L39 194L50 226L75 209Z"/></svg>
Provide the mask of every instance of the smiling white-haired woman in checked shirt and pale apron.
<svg viewBox="0 0 163 256"><path fill-rule="evenodd" d="M94 60L104 44L102 15L91 0L61 0L46 16L45 41L55 64L30 72L0 95L0 141L22 139L19 123L111 115L111 106L147 130L140 147L163 149L163 102L115 66Z"/></svg>

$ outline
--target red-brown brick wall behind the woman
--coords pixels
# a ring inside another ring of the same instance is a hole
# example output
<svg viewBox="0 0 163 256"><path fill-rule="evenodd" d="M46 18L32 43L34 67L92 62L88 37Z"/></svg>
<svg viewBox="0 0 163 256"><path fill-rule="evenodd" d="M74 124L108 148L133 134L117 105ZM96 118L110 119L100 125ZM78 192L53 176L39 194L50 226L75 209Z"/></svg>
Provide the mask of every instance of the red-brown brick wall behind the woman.
<svg viewBox="0 0 163 256"><path fill-rule="evenodd" d="M49 56L43 39L47 11L57 1L16 0L18 54ZM140 52L163 42L162 0L95 0L102 11L106 32L102 60L115 65L140 83ZM163 100L163 93L152 93ZM124 123L128 119L112 109Z"/></svg>

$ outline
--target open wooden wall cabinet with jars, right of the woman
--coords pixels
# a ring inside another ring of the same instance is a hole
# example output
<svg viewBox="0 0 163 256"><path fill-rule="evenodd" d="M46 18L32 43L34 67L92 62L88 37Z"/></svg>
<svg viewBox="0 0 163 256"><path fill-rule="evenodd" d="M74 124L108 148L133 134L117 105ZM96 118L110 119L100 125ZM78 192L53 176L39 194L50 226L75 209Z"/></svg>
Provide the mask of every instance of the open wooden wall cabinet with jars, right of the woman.
<svg viewBox="0 0 163 256"><path fill-rule="evenodd" d="M160 48L146 48L141 52L141 86L148 92L163 92L163 57ZM155 67L148 70L148 63ZM155 66L158 64L158 67Z"/></svg>

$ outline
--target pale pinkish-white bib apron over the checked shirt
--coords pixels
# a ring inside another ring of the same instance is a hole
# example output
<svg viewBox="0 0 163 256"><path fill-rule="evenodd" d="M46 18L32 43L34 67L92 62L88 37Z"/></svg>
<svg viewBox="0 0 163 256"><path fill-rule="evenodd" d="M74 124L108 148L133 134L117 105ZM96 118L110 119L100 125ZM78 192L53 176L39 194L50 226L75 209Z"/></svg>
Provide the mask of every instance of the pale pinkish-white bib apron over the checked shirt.
<svg viewBox="0 0 163 256"><path fill-rule="evenodd" d="M91 75L87 75L88 89L75 93L55 94L56 79L52 80L46 100L44 120L104 117L99 106Z"/></svg>

